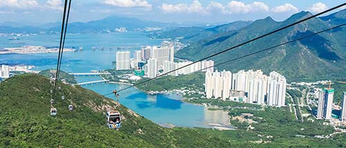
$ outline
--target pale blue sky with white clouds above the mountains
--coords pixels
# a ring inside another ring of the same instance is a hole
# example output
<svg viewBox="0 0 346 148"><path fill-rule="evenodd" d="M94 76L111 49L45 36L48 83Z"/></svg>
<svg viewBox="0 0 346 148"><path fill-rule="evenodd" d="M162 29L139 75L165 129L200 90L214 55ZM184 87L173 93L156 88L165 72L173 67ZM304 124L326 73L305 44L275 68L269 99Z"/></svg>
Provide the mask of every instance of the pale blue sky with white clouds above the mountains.
<svg viewBox="0 0 346 148"><path fill-rule="evenodd" d="M316 13L343 0L72 0L71 21L91 21L110 15L177 23L255 20L267 16L282 21L295 12ZM0 22L44 24L60 21L62 0L0 0Z"/></svg>

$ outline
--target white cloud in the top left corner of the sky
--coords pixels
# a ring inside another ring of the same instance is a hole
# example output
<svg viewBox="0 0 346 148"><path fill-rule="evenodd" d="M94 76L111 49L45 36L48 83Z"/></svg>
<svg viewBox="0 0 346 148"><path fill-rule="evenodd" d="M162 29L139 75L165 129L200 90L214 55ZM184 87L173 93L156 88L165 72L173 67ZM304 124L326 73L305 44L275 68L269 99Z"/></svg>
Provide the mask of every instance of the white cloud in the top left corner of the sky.
<svg viewBox="0 0 346 148"><path fill-rule="evenodd" d="M39 8L40 6L36 0L1 0L0 7L28 10Z"/></svg>

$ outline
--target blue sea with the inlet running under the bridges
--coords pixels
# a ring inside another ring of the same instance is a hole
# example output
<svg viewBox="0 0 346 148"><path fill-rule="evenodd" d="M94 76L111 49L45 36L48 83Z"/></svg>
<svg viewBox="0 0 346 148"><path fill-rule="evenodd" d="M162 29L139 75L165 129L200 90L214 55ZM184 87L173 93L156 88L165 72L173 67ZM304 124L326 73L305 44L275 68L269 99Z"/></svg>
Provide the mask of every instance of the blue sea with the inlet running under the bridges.
<svg viewBox="0 0 346 148"><path fill-rule="evenodd" d="M17 37L18 40L10 40L13 37L1 36L0 49L20 46L56 47L59 46L60 41L60 35L28 35ZM161 42L161 39L150 39L140 32L68 34L66 35L65 47L76 48L77 51L63 53L62 71L86 73L113 68L112 62L116 60L117 51L139 50L140 46L155 46L160 45ZM81 46L82 50L79 50ZM35 66L33 71L42 71L56 68L57 53L0 55L0 64L30 65ZM101 77L78 76L76 80L78 82L90 82L101 80ZM84 86L84 88L103 95L126 86L125 84L107 83ZM226 111L210 111L207 107L185 103L180 95L174 93L149 95L134 88L128 91L131 93L120 94L120 103L157 124L203 128L213 128L215 124L219 124L222 127L230 127L228 126L229 117ZM107 97L116 100L113 95Z"/></svg>

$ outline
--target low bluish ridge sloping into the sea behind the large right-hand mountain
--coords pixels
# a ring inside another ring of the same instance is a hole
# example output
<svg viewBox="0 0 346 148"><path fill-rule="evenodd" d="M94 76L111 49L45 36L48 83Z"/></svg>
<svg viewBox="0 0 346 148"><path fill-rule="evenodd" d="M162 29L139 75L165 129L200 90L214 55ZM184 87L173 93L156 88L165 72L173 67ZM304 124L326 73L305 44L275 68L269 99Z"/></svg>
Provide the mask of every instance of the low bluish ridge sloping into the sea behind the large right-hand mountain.
<svg viewBox="0 0 346 148"><path fill-rule="evenodd" d="M166 31L159 30L151 36L161 39L177 38L181 39L182 42L192 43L195 41L199 41L200 39L204 39L206 37L211 37L212 35L216 35L218 33L244 28L245 26L248 26L251 23L252 21L235 21L229 24L223 24L212 28L203 28L197 26L181 27Z"/></svg>

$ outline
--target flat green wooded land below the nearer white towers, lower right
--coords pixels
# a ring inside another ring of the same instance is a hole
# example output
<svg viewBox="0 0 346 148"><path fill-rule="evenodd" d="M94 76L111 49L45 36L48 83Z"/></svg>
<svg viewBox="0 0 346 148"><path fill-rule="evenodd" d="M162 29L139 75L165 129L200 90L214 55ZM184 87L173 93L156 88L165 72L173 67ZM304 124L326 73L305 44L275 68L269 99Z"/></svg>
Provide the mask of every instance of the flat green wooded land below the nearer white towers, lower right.
<svg viewBox="0 0 346 148"><path fill-rule="evenodd" d="M253 117L246 117L257 123L231 120L237 127L236 131L217 131L201 129L208 135L229 140L231 142L259 142L255 147L345 147L346 134L339 134L329 139L315 138L334 132L333 127L323 125L324 120L295 120L289 107L275 108L262 107L255 104L243 104L221 100L190 99L189 102L217 105L229 111L231 118L242 113L251 113ZM313 118L313 117L310 117ZM250 128L253 127L253 129Z"/></svg>

